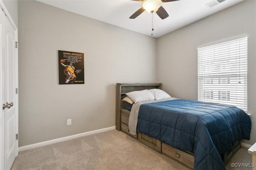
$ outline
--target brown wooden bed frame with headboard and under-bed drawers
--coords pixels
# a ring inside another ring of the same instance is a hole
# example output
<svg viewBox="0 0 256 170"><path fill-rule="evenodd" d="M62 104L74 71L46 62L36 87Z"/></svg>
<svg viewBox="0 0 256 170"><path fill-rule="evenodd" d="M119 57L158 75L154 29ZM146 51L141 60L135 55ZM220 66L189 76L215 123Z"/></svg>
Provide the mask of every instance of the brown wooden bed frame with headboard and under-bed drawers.
<svg viewBox="0 0 256 170"><path fill-rule="evenodd" d="M188 151L174 148L156 138L147 136L137 132L136 135L132 135L129 132L128 121L130 117L130 111L122 109L122 99L126 97L126 93L131 91L139 91L144 89L161 89L162 83L116 83L116 129L136 138L138 141L146 144L150 148L162 153L187 168L194 169L194 154ZM232 156L241 148L241 141L237 141L233 149L229 152L225 152L222 156L222 160L226 166Z"/></svg>

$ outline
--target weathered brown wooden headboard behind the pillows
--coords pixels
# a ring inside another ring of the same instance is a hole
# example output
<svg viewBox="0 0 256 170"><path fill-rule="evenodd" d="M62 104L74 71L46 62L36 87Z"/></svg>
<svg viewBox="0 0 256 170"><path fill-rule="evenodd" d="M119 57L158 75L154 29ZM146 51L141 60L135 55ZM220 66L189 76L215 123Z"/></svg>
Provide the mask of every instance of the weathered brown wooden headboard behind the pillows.
<svg viewBox="0 0 256 170"><path fill-rule="evenodd" d="M116 129L121 130L121 103L127 96L125 93L161 87L162 83L116 83Z"/></svg>

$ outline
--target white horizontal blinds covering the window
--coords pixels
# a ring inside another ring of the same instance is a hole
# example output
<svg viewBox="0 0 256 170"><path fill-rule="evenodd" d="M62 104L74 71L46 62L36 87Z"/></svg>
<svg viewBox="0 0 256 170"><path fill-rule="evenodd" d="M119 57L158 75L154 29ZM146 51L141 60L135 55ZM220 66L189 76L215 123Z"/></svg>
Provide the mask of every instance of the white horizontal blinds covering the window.
<svg viewBox="0 0 256 170"><path fill-rule="evenodd" d="M198 48L198 101L247 112L247 37Z"/></svg>

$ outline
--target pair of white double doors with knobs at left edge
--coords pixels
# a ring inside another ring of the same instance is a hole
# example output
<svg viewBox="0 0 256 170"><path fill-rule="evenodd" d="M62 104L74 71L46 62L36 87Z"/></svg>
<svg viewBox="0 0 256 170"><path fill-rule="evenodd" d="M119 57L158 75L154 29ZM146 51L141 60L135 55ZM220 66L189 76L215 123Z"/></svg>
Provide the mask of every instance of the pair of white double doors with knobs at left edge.
<svg viewBox="0 0 256 170"><path fill-rule="evenodd" d="M17 31L2 10L0 18L0 168L10 170L18 155Z"/></svg>

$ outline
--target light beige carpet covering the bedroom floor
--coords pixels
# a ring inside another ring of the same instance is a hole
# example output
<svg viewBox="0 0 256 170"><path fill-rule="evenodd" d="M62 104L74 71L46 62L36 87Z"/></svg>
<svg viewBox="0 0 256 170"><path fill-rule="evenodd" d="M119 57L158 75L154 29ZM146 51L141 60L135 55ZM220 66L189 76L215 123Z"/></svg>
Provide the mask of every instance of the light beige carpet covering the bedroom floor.
<svg viewBox="0 0 256 170"><path fill-rule="evenodd" d="M252 163L241 148L231 163ZM19 152L11 170L188 170L118 130L109 130ZM251 170L252 168L242 168Z"/></svg>

